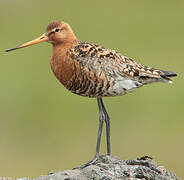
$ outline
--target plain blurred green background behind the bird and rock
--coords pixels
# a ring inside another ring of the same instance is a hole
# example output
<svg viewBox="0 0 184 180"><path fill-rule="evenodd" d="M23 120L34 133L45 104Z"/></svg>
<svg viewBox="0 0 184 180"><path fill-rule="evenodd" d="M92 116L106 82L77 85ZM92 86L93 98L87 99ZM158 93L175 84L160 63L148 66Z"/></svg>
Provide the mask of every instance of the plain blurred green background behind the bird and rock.
<svg viewBox="0 0 184 180"><path fill-rule="evenodd" d="M51 21L64 20L80 40L178 73L172 85L152 84L104 102L114 156L149 155L184 177L184 1L0 0L0 20L0 176L36 177L94 155L96 100L74 95L56 80L51 45L3 52L41 35Z"/></svg>

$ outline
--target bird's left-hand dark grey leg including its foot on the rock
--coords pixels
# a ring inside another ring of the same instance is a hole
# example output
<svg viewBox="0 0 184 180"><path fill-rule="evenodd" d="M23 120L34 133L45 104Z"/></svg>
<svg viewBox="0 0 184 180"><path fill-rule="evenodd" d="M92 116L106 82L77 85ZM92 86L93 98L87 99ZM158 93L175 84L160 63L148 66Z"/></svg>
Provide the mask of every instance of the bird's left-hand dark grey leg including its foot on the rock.
<svg viewBox="0 0 184 180"><path fill-rule="evenodd" d="M96 153L95 153L94 158L91 161L89 161L89 162L87 162L87 163L85 163L77 168L85 168L91 164L94 164L98 160L99 155L100 155L100 142L101 142L101 137L102 137L103 123L104 123L104 120L106 119L106 114L104 112L105 107L103 105L102 99L97 98L97 102L98 102L98 108L99 108L99 127L98 127L98 136L97 136L97 144L96 144ZM74 168L74 169L77 169L77 168Z"/></svg>

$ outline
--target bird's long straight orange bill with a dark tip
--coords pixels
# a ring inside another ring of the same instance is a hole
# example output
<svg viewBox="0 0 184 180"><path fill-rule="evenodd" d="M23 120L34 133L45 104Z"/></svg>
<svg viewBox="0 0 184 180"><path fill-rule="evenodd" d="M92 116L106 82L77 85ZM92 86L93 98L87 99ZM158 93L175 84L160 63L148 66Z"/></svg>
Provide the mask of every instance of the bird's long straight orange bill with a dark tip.
<svg viewBox="0 0 184 180"><path fill-rule="evenodd" d="M38 38L36 38L36 39L34 39L32 41L26 42L26 43L24 43L24 44L22 44L20 46L16 46L16 47L11 48L11 49L7 49L5 51L9 52L9 51L13 51L13 50L16 50L16 49L28 47L28 46L31 46L33 44L38 44L38 43L45 42L45 41L48 41L48 37L45 34L43 34L40 37L38 37Z"/></svg>

